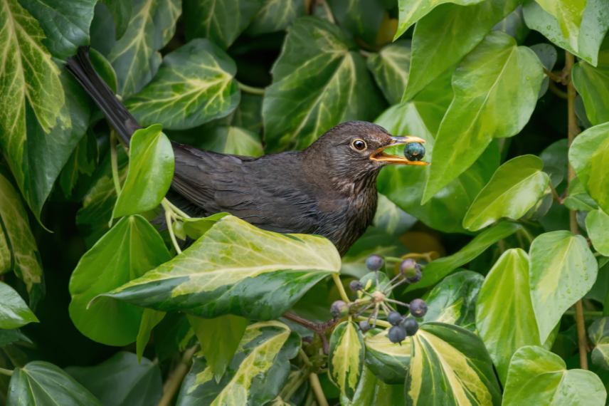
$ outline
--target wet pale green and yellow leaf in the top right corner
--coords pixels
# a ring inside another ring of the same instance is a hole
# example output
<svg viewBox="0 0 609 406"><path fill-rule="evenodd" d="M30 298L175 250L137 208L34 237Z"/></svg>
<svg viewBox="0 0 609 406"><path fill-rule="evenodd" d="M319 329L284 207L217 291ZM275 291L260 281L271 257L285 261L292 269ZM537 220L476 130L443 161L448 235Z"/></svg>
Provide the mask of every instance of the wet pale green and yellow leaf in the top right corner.
<svg viewBox="0 0 609 406"><path fill-rule="evenodd" d="M529 28L594 66L609 28L608 13L604 0L528 0L524 4Z"/></svg>

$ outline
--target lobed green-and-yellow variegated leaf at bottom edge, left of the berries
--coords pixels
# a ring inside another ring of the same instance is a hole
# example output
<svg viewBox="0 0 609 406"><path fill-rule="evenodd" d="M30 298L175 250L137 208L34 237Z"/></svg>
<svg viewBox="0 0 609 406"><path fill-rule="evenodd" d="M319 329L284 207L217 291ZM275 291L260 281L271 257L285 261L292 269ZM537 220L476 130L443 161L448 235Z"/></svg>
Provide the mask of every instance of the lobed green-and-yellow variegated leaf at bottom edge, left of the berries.
<svg viewBox="0 0 609 406"><path fill-rule="evenodd" d="M255 323L245 330L219 382L205 358L194 359L176 405L264 405L279 394L299 348L299 336L285 324Z"/></svg>

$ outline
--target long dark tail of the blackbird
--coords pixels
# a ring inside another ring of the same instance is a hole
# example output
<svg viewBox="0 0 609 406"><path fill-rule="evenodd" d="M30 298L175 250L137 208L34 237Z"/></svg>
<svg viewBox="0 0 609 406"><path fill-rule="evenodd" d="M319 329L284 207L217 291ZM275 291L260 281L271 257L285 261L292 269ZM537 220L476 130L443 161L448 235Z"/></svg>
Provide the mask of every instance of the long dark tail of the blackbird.
<svg viewBox="0 0 609 406"><path fill-rule="evenodd" d="M89 58L89 50L80 47L75 56L68 58L68 71L74 75L78 83L100 106L110 125L115 128L121 139L129 145L129 139L139 125L104 80L95 72Z"/></svg>

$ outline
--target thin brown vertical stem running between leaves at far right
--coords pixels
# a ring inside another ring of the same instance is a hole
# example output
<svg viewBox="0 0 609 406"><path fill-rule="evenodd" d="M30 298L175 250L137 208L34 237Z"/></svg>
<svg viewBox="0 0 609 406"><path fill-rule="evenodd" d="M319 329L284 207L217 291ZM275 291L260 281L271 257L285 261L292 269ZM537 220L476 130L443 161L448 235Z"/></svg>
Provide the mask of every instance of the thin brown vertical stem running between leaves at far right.
<svg viewBox="0 0 609 406"><path fill-rule="evenodd" d="M573 140L575 140L576 135L580 132L579 127L577 126L577 117L575 114L575 98L576 98L576 90L573 85L573 80L571 79L571 72L573 71L573 63L575 62L575 58L573 54L565 51L565 70L568 73L568 83L567 83L567 137L568 137L568 146L571 147ZM571 184L575 178L575 171L571 166L571 163L568 164L568 184ZM567 187L568 189L568 187ZM569 228L573 234L579 234L579 228L577 225L577 217L575 210L569 210ZM583 321L583 303L580 300L575 303L575 322L577 326L577 346L579 349L579 365L581 369L588 369L588 341L586 338L586 326Z"/></svg>

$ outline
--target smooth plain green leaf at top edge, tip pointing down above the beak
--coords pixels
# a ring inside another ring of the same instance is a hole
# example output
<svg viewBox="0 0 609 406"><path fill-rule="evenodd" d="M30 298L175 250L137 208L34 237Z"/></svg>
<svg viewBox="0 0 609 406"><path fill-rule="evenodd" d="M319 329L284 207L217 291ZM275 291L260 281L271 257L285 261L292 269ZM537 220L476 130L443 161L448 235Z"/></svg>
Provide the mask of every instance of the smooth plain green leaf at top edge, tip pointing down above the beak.
<svg viewBox="0 0 609 406"><path fill-rule="evenodd" d="M423 17L413 33L411 70L402 100L410 100L442 73L452 71L519 3L485 0L471 6L443 4Z"/></svg>

